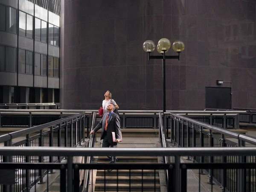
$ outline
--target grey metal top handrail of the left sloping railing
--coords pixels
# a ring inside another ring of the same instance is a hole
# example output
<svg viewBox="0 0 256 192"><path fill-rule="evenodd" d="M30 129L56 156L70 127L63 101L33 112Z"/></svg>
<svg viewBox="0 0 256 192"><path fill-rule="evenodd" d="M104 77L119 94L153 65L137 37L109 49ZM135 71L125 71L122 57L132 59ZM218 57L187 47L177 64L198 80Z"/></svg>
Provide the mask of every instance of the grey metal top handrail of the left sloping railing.
<svg viewBox="0 0 256 192"><path fill-rule="evenodd" d="M55 121L52 121L52 122L45 123L43 125L37 125L37 126L32 127L32 128L26 128L26 129L23 129L23 130L20 130L20 131L15 131L15 132L12 132L12 133L9 133L9 134L4 134L4 135L0 136L0 143L6 142L8 140L11 140L11 139L14 139L14 138L17 138L17 137L21 137L21 136L26 135L26 134L34 133L35 131L43 130L44 128L49 128L53 125L60 124L62 122L74 119L76 117L79 117L79 116L85 115L85 114L87 114L87 112L82 112L82 113L79 113L79 114L75 114L73 116L58 119L58 120L55 120Z"/></svg>

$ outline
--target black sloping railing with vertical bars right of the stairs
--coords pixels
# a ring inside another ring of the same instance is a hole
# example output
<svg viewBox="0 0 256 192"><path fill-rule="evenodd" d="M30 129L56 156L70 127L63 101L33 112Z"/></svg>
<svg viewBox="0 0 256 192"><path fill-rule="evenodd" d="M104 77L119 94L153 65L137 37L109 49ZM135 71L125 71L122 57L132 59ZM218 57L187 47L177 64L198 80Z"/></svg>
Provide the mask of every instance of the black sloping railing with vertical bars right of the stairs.
<svg viewBox="0 0 256 192"><path fill-rule="evenodd" d="M239 134L233 131L217 128L213 125L204 122L190 119L186 116L180 116L174 113L171 115L171 140L175 145L180 147L202 148L210 147L212 150L219 147L228 147L230 150L237 147L245 147L247 145L256 146L256 138L245 134ZM168 133L166 128L165 133ZM179 148L179 149L182 149ZM246 150L247 148L244 148ZM245 154L243 157L238 157L239 154L226 154L226 157L221 156L223 149L220 149L218 156L212 155L197 156L188 154L188 160L193 160L195 163L256 163L255 154ZM192 157L192 159L191 159ZM227 191L236 191L235 189L248 191L251 185L256 186L255 170L234 171L227 169L226 171L215 169L204 169L204 172L209 175L209 183L215 182ZM255 175L251 175L251 172ZM244 178L246 178L243 180ZM238 186L236 186L238 185ZM245 188L246 190L244 190Z"/></svg>

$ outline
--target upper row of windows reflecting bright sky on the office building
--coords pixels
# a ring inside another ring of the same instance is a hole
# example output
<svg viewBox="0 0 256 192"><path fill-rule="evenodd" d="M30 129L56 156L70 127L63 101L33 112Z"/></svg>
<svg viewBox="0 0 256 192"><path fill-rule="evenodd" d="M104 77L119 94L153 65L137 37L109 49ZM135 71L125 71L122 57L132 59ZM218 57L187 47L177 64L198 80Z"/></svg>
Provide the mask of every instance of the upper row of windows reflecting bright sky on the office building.
<svg viewBox="0 0 256 192"><path fill-rule="evenodd" d="M17 10L0 5L0 31L17 34ZM59 47L59 27L48 23L48 44ZM19 11L19 35L47 43L47 22Z"/></svg>

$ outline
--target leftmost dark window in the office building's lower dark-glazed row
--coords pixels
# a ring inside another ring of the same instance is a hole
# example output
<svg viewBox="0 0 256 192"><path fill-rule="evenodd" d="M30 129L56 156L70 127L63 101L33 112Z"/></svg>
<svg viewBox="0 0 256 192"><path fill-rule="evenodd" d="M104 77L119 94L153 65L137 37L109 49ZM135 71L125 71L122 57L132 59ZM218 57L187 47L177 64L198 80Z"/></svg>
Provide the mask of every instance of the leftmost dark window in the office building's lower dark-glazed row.
<svg viewBox="0 0 256 192"><path fill-rule="evenodd" d="M16 55L15 47L0 45L0 71L16 72Z"/></svg>

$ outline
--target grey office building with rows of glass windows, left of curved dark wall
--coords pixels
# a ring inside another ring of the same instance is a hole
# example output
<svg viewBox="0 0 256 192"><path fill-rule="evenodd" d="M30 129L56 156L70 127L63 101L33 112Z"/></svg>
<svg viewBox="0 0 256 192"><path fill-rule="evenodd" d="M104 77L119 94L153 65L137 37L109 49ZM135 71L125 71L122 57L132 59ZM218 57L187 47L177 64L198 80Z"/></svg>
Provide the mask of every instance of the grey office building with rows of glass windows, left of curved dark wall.
<svg viewBox="0 0 256 192"><path fill-rule="evenodd" d="M60 0L0 0L0 103L59 102Z"/></svg>

